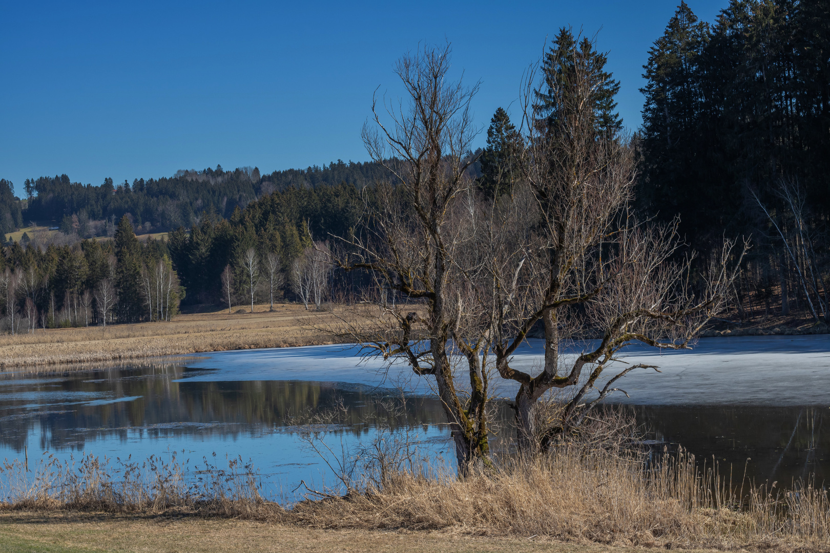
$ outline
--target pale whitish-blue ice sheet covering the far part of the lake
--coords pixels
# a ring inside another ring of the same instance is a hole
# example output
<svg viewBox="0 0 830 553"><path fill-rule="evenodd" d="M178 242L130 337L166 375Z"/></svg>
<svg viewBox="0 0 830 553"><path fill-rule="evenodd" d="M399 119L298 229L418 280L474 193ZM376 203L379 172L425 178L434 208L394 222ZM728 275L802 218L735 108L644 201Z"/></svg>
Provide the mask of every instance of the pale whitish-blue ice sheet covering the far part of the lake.
<svg viewBox="0 0 830 553"><path fill-rule="evenodd" d="M541 340L516 352L512 366L536 374L542 361ZM583 345L590 347L588 342ZM579 347L577 347L579 350ZM359 351L348 346L286 347L199 354L183 381L297 380L348 382L394 387L398 382L428 393L428 379L413 377L406 366L381 362L358 364ZM631 347L631 363L660 366L662 373L637 369L617 382L615 402L633 405L830 405L830 336L703 338L690 351L659 352ZM623 368L622 364L618 364ZM613 369L608 369L612 375ZM510 396L515 385L501 383L498 395Z"/></svg>

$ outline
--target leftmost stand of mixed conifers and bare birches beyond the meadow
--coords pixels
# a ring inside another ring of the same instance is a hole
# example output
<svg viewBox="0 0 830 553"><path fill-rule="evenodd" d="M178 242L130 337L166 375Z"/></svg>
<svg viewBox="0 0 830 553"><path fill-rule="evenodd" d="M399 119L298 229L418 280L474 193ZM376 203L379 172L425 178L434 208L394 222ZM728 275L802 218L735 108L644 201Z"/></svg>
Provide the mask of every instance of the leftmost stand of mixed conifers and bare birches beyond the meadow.
<svg viewBox="0 0 830 553"><path fill-rule="evenodd" d="M13 242L0 255L0 328L12 334L170 320L183 293L166 241L140 243L127 217L114 240Z"/></svg>

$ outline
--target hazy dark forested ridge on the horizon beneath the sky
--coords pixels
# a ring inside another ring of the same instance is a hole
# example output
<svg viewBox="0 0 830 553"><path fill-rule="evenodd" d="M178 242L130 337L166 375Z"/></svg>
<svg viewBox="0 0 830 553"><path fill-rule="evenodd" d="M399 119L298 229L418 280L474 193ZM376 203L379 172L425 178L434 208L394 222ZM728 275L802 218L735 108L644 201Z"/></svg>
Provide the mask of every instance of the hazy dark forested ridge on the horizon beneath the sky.
<svg viewBox="0 0 830 553"><path fill-rule="evenodd" d="M24 183L27 208L21 210L12 194L7 205L17 205L17 211L9 216L0 212L0 231L12 232L22 226L22 221L36 221L59 226L66 234L82 238L112 236L116 221L128 214L139 234L167 231L192 226L208 206L228 218L237 207L247 206L271 192L341 183L362 188L382 179L383 171L377 163L338 160L323 167L275 171L270 175L261 175L257 167L224 171L220 165L202 171L178 171L173 177L134 179L132 184L125 181L117 186L111 178L100 186L71 182L67 175L32 178ZM11 183L7 187L11 188ZM5 192L0 191L2 194Z"/></svg>

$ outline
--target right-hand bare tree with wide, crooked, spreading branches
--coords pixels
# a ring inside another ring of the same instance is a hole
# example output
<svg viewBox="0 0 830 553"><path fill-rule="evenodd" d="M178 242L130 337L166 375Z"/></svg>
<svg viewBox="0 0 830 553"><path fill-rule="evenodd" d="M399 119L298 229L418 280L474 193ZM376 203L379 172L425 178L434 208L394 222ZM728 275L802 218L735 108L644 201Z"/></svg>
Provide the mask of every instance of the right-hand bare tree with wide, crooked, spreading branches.
<svg viewBox="0 0 830 553"><path fill-rule="evenodd" d="M597 131L593 94L605 77L586 56L592 49L589 43L574 49L540 83L534 70L526 80L521 99L526 148L520 164L526 192L511 199L520 216L505 220L514 226L508 233L512 245L501 248L491 264L494 281L501 284L493 300L496 370L519 385L515 413L525 451L578 426L629 371L655 368L627 366L596 397L587 398L627 344L689 347L723 308L736 274L726 269L735 261L733 243L727 241L702 291L692 293L691 256L672 261L679 245L676 226L656 229L633 220L627 207L635 177L632 148L624 137ZM541 371L518 370L511 358L540 321ZM578 356L564 355L568 340L590 335L601 339ZM574 394L561 420L535 428L540 398L562 388Z"/></svg>

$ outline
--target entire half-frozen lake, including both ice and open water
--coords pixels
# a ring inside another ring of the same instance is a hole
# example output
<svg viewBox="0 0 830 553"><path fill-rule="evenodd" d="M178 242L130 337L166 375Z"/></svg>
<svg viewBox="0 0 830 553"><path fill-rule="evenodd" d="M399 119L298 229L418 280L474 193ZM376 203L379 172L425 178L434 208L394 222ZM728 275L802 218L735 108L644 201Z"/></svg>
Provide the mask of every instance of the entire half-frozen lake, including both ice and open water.
<svg viewBox="0 0 830 553"><path fill-rule="evenodd" d="M541 352L541 341L531 340L514 366L532 371ZM300 479L330 483L325 463L301 447L297 420L342 402L349 420L331 439L357 447L377 431L378 414L401 401L398 387L414 395L398 424L418 434L433 458L452 459L428 381L405 366L359 364L357 353L295 347L44 376L0 373L0 459L28 454L31 461L45 451L145 458L174 450L193 464L221 464L239 455L260 468L276 497ZM631 405L655 439L722 464L743 467L751 457L761 480L809 473L823 480L828 472L830 439L822 430L830 417L830 337L706 338L691 352L634 348L625 361L661 367L633 371L618 381L630 397L610 398ZM514 392L510 384L498 389L507 398ZM500 416L510 420L506 403Z"/></svg>

